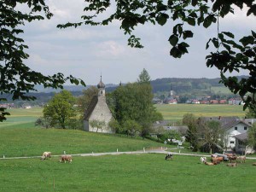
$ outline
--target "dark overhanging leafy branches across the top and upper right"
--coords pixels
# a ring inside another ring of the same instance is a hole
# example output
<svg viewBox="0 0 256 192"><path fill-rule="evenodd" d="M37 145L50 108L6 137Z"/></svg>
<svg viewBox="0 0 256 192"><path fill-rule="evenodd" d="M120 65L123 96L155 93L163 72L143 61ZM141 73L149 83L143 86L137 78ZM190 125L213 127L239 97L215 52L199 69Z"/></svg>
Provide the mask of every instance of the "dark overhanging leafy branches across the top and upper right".
<svg viewBox="0 0 256 192"><path fill-rule="evenodd" d="M247 16L256 15L256 4L253 0L85 0L82 21L68 22L58 25L60 28L69 26L108 26L113 20L119 20L120 29L129 35L128 45L135 48L143 48L140 38L133 31L136 26L152 23L160 26L167 22L173 23L172 32L168 39L171 44L170 55L181 58L189 53L188 38L193 38L194 32L189 30L191 26L204 26L208 28L217 23L228 14L234 14L234 7L247 11ZM108 15L108 9L114 10ZM107 15L104 19L104 15ZM217 26L218 27L218 26ZM217 37L212 37L207 42L216 49L207 55L207 67L217 67L220 72L221 83L227 86L235 94L238 93L246 103L244 108L256 108L253 96L256 90L256 32L245 34L238 42L232 32L220 32ZM238 80L236 77L227 77L226 72L240 72L246 70L247 79ZM245 97L246 96L246 97Z"/></svg>

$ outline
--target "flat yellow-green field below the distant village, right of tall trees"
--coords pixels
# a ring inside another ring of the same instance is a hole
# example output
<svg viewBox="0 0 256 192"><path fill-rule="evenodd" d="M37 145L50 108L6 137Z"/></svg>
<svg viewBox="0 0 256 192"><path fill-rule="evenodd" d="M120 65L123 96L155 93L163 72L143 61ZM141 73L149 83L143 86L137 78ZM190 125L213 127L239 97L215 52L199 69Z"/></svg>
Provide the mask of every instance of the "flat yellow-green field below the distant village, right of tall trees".
<svg viewBox="0 0 256 192"><path fill-rule="evenodd" d="M155 105L162 113L164 119L177 121L183 119L185 113L193 113L196 117L209 116L238 116L245 117L241 105L196 105L196 104L175 104L175 105Z"/></svg>

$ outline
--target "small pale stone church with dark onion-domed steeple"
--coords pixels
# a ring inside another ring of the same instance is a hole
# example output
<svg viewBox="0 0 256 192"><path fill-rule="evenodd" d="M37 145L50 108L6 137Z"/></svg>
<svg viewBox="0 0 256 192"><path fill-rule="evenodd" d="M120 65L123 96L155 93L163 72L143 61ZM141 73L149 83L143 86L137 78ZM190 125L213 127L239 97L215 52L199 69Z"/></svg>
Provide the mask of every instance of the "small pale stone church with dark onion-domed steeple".
<svg viewBox="0 0 256 192"><path fill-rule="evenodd" d="M102 82L102 76L100 83L97 84L97 88L98 95L93 96L87 110L84 112L84 131L96 132L97 128L90 126L90 121L96 119L105 121L106 123L102 130L98 130L99 132L112 133L111 129L108 127L108 122L112 119L112 113L106 102L105 84Z"/></svg>

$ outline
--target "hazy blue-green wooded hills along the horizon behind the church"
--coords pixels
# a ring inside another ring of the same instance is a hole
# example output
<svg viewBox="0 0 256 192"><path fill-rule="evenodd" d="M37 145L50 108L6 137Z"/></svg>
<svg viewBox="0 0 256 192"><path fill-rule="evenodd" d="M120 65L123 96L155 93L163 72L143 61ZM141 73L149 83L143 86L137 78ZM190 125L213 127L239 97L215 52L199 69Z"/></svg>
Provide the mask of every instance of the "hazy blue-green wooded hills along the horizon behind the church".
<svg viewBox="0 0 256 192"><path fill-rule="evenodd" d="M238 79L247 78L247 76L239 76ZM155 79L150 82L153 87L154 96L158 97L166 97L170 94L170 91L173 90L176 96L180 97L195 97L195 96L234 96L230 92L228 88L224 86L224 84L219 83L220 79L184 79L184 78L162 78L162 79ZM81 96L82 91L88 89L90 86L87 85L86 87L82 85L65 85L64 89L69 90L73 93L73 96ZM96 86L96 85L94 85ZM106 84L106 91L111 92L115 90L119 84ZM54 96L56 92L60 92L61 89L44 89L44 86L37 85L36 89L38 92L31 92L27 95L36 96L38 99L34 101L35 103L42 103L48 102L49 99ZM7 98L7 102L14 102L12 101L12 96L3 94L3 97ZM15 103L26 103L26 101L15 101ZM32 101L31 101L32 102ZM31 103L30 102L30 103Z"/></svg>

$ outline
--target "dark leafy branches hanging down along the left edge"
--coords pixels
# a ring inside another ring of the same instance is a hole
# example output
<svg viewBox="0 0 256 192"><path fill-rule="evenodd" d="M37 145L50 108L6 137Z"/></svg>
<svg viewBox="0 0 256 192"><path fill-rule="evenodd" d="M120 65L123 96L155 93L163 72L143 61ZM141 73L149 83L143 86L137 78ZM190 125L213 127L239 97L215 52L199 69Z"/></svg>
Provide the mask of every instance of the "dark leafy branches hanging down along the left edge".
<svg viewBox="0 0 256 192"><path fill-rule="evenodd" d="M18 10L20 4L26 5L29 11ZM9 94L13 100L35 100L34 96L27 96L26 93L36 91L36 84L62 89L62 85L70 80L73 84L85 85L81 79L72 75L64 77L62 73L57 73L45 76L26 66L25 61L29 55L25 49L28 49L28 46L20 38L24 33L20 26L32 20L44 20L44 17L52 17L44 0L0 1L0 101L6 100L3 94ZM0 108L0 121L6 119L8 114L5 108Z"/></svg>

